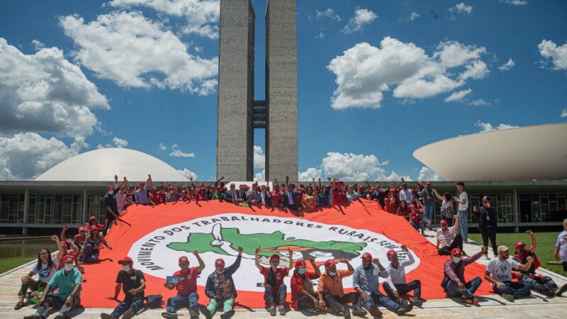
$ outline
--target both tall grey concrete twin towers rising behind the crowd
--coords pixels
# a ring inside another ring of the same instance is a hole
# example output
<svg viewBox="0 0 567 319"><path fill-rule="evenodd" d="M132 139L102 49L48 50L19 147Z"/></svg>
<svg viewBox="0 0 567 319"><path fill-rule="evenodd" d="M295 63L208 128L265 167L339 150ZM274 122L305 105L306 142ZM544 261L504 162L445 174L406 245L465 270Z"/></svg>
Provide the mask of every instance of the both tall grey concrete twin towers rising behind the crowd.
<svg viewBox="0 0 567 319"><path fill-rule="evenodd" d="M266 181L298 179L297 4L268 0L266 98L254 100L252 0L220 0L217 178L252 181L254 129L266 130Z"/></svg>

